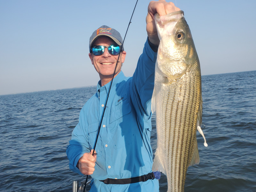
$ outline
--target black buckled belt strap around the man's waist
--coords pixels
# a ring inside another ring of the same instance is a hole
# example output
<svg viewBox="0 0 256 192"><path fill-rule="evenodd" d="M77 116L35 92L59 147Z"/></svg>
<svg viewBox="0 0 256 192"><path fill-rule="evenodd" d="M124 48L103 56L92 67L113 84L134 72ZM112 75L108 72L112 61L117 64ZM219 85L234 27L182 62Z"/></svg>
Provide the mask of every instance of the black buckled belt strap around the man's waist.
<svg viewBox="0 0 256 192"><path fill-rule="evenodd" d="M147 175L142 175L139 177L132 177L132 178L127 178L127 179L105 179L105 180L100 180L105 184L130 184L130 183L137 183L137 182L145 182L149 179L155 179L155 174L148 173Z"/></svg>

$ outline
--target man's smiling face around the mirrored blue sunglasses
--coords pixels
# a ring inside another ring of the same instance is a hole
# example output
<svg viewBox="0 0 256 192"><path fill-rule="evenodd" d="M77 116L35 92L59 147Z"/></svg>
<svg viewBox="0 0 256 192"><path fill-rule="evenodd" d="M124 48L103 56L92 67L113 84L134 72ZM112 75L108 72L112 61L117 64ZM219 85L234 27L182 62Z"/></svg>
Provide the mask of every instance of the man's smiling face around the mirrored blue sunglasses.
<svg viewBox="0 0 256 192"><path fill-rule="evenodd" d="M110 45L116 45L116 43L111 38L107 36L102 36L94 42L93 46L95 45L102 45L102 46L108 47ZM118 55L111 55L108 52L107 47L105 48L102 55L96 56L96 55L93 55L92 53L89 53L89 57L92 61L92 65L94 66L96 71L99 73L101 82L103 80L108 81L108 79L110 79L108 82L111 81L115 67L116 67L116 71L115 71L114 77L116 77L116 75L121 71L121 66L125 60L125 55L126 55L125 51L121 52L119 57L119 62L117 63L117 66L116 66Z"/></svg>

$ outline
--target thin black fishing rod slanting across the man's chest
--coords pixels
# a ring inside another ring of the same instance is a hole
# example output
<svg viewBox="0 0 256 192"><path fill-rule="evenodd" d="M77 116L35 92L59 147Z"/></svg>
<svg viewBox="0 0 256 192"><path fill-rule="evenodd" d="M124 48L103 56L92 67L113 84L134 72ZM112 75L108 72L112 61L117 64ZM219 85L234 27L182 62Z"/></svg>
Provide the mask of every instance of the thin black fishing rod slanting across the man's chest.
<svg viewBox="0 0 256 192"><path fill-rule="evenodd" d="M133 13L134 13L134 11L135 11L135 8L136 8L137 3L138 3L138 0L136 1L136 4L135 4L135 6L134 6L134 9L133 9L133 12L132 12L132 16L133 16ZM130 26L130 24L132 23L132 16L131 16L131 19L130 19L130 21L129 21L128 27L127 27L127 29L126 29L126 32L125 32L125 35L124 35L124 40L125 40L126 34L127 34L127 32L128 32L129 26ZM124 41L123 41L123 44L124 44ZM118 54L118 58L117 58L117 61L116 61L116 67L117 67L117 63L120 62L120 61L118 61L118 60L119 60L120 54L121 54L121 52L122 52L122 50L123 50L123 44L121 45L121 49L120 49L121 51L120 51L120 53ZM115 67L115 70L114 70L114 73L113 73L113 76L112 76L112 79L111 79L111 83L110 83L109 90L108 90L108 95L107 95L107 100L106 100L106 102L105 102L104 109L103 109L103 113L102 113L102 116L101 116L101 119L100 119L100 125L99 125L99 128L98 128L97 137L96 137L96 140L95 140L95 143L94 143L92 156L94 155L95 148L96 148L96 144L97 144L97 140L98 140L98 137L99 137L99 134L100 134L100 127L101 127L101 124L102 124L102 120L103 120L103 116L104 116L105 110L106 110L106 108L107 108L106 106L107 106L107 102L108 102L108 96L109 96L109 92L110 92L110 89L111 89L111 86L112 86L112 83L113 83L113 79L114 79L114 76L115 76L115 73L116 73L116 67ZM84 191L85 191L85 187L86 187L87 180L88 180L88 175L87 175L86 180L85 180Z"/></svg>

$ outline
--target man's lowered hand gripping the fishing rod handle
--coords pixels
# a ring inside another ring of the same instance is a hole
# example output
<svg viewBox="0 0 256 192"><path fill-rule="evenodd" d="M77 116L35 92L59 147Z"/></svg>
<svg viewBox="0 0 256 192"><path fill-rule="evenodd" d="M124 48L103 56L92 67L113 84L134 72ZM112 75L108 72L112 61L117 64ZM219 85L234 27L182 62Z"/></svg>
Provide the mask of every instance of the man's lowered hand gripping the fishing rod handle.
<svg viewBox="0 0 256 192"><path fill-rule="evenodd" d="M93 149L91 150L91 153L84 153L84 155L77 162L76 166L84 175L91 175L95 170L94 167L97 156L96 154L92 156L92 152Z"/></svg>

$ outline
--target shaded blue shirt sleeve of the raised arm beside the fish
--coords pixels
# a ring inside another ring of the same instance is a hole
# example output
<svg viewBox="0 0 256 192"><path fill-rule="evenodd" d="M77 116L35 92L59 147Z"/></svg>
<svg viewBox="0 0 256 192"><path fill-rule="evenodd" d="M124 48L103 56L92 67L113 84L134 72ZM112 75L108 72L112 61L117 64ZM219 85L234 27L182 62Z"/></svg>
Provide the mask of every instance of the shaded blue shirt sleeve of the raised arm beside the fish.
<svg viewBox="0 0 256 192"><path fill-rule="evenodd" d="M151 49L147 39L130 86L133 105L137 113L140 112L143 116L144 120L149 119L151 116L151 98L154 89L156 57L157 52Z"/></svg>

